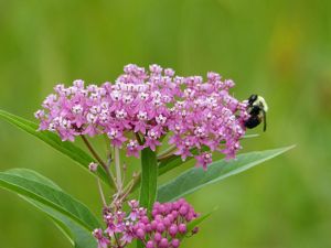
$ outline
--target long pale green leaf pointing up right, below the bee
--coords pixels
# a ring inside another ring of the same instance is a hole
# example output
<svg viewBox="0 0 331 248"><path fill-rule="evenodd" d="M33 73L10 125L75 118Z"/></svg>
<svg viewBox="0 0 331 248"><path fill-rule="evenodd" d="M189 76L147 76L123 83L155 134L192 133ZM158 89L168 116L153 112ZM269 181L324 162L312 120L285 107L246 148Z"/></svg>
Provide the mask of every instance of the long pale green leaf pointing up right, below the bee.
<svg viewBox="0 0 331 248"><path fill-rule="evenodd" d="M158 190L158 201L174 201L177 198L191 194L209 184L216 183L227 176L235 175L245 170L248 170L292 148L293 145L239 154L235 160L220 160L213 162L209 166L207 171L203 171L202 168L192 168L183 172L169 183L160 186Z"/></svg>

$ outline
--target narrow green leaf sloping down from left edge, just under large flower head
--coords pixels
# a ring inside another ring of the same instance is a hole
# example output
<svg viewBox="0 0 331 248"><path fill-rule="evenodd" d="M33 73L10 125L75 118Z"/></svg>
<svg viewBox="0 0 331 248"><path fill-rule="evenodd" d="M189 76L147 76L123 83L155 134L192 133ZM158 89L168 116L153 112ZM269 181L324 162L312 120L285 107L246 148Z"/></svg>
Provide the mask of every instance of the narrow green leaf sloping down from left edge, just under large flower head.
<svg viewBox="0 0 331 248"><path fill-rule="evenodd" d="M67 155L75 162L77 162L79 165L82 165L84 169L88 170L88 164L90 162L95 162L95 160L86 153L81 148L76 147L70 141L62 141L60 137L56 133L50 132L50 131L38 131L39 126L35 122L32 122L30 120L26 120L24 118L14 116L10 112L0 110L0 117L10 122L11 125L29 132L30 134L36 137L38 139L44 141L55 150L60 151L61 153ZM88 170L89 172L89 170ZM98 175L105 183L109 184L109 181L107 180L107 174L103 170L102 166L98 166L98 170L96 173L93 173L93 175Z"/></svg>

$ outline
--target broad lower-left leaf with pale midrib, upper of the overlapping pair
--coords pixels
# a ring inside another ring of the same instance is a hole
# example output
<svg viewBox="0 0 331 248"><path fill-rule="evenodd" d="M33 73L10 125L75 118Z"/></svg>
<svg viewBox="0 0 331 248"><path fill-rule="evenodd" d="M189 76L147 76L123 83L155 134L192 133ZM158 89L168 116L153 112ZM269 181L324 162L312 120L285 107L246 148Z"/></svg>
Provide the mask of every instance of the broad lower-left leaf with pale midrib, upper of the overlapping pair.
<svg viewBox="0 0 331 248"><path fill-rule="evenodd" d="M84 204L36 172L25 169L1 172L0 186L32 201L31 203L52 217L57 216L56 219L62 223L66 218L67 223L73 223L86 231L100 226Z"/></svg>

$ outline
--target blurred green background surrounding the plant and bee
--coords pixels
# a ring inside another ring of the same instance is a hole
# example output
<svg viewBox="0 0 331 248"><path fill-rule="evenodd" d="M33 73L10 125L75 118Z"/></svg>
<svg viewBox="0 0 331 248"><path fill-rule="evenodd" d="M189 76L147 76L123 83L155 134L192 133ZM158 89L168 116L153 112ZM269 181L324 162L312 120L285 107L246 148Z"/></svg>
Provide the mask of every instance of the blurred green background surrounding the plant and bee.
<svg viewBox="0 0 331 248"><path fill-rule="evenodd" d="M1 109L33 119L55 83L114 80L128 63L233 78L236 97L269 104L267 132L244 151L297 144L188 197L202 213L220 208L183 248L331 247L331 1L0 0ZM99 213L92 176L1 120L0 170L11 168L39 171ZM71 247L2 190L0 244Z"/></svg>

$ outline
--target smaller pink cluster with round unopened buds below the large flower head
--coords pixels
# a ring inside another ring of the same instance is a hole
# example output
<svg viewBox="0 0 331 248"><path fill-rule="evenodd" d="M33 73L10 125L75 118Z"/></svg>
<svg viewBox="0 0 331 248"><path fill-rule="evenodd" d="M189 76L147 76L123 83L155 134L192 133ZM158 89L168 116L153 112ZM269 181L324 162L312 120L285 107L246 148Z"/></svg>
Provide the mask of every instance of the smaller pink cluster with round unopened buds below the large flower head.
<svg viewBox="0 0 331 248"><path fill-rule="evenodd" d="M129 214L106 212L106 229L94 230L98 248L120 248L134 239L142 241L146 248L178 248L181 237L189 234L188 224L197 217L193 207L181 198L173 203L154 203L151 219L146 208L137 201L130 201ZM197 228L191 230L195 234Z"/></svg>

